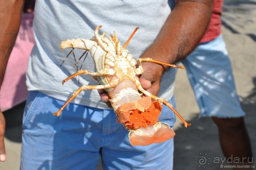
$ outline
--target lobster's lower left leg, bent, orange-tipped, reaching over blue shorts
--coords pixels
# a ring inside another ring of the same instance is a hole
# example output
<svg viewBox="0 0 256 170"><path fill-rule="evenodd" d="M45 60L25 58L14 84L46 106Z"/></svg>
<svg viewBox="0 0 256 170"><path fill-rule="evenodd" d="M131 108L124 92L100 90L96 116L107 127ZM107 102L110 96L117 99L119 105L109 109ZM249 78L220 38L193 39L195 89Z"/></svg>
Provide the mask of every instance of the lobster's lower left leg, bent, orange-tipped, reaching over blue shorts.
<svg viewBox="0 0 256 170"><path fill-rule="evenodd" d="M65 104L53 115L61 115L62 110L77 96L79 93L81 93L82 90L87 90L87 89L104 89L104 88L111 88L115 87L118 83L118 79L112 80L109 84L106 85L94 85L94 86L89 86L89 85L83 85L80 88L78 88L73 95L69 98L68 101L65 102Z"/></svg>

